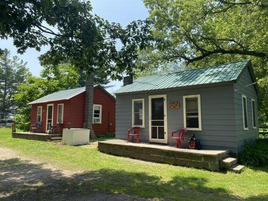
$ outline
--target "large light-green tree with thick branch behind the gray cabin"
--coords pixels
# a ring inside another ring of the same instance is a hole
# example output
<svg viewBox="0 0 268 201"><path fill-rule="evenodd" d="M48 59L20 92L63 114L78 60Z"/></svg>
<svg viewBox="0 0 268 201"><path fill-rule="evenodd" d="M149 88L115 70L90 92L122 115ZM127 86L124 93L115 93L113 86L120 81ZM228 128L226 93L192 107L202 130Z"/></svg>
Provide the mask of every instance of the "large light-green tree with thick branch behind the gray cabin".
<svg viewBox="0 0 268 201"><path fill-rule="evenodd" d="M266 0L143 1L155 42L140 51L139 65L146 71L170 62L198 68L249 58L261 91L259 117L268 116Z"/></svg>

